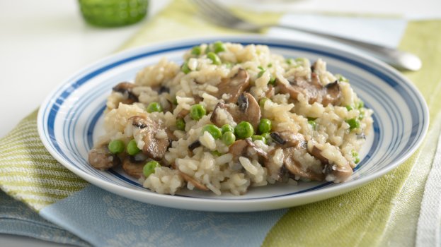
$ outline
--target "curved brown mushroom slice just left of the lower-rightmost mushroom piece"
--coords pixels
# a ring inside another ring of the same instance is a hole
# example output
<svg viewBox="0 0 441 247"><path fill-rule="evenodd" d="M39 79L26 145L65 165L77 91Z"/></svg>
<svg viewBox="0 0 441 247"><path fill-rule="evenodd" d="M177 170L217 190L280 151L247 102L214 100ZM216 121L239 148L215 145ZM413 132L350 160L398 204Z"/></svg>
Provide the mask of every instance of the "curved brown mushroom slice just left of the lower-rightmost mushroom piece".
<svg viewBox="0 0 441 247"><path fill-rule="evenodd" d="M315 181L323 181L324 175L320 171L314 171L312 169L302 167L302 164L298 161L297 155L295 155L295 150L299 150L296 147L288 147L283 150L284 159L283 164L290 171L291 174L298 175L305 179L311 179ZM306 154L306 149L304 154Z"/></svg>

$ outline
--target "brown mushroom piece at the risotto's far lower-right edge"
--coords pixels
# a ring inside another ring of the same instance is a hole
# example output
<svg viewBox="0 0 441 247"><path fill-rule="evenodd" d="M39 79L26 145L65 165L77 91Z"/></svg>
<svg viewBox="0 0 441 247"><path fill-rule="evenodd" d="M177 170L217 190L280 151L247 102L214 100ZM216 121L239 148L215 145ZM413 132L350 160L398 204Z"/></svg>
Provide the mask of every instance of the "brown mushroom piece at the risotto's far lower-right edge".
<svg viewBox="0 0 441 247"><path fill-rule="evenodd" d="M330 164L329 160L321 155L321 149L315 145L312 147L310 153L325 165L323 172L326 175L326 180L333 181L334 183L340 183L348 180L353 174L353 169L350 167L349 163L344 164L343 167L339 167L337 164Z"/></svg>

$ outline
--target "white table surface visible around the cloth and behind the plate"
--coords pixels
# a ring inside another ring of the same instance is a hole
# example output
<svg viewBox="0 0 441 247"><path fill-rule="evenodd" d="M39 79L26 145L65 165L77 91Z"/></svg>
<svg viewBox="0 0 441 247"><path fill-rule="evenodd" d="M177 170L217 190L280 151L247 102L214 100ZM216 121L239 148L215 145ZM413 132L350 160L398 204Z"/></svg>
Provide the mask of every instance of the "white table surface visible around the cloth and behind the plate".
<svg viewBox="0 0 441 247"><path fill-rule="evenodd" d="M242 1L249 4L251 0ZM256 0L257 1L257 0ZM233 1L230 1L233 2ZM399 14L412 18L441 17L440 0L279 0L258 1L260 8L307 12ZM332 4L330 4L332 3ZM157 12L164 1L153 0ZM379 7L381 6L381 8ZM101 29L86 25L76 1L0 1L0 136L40 105L49 92L80 68L101 59L148 19L125 28ZM0 234L0 246L60 246L23 236Z"/></svg>

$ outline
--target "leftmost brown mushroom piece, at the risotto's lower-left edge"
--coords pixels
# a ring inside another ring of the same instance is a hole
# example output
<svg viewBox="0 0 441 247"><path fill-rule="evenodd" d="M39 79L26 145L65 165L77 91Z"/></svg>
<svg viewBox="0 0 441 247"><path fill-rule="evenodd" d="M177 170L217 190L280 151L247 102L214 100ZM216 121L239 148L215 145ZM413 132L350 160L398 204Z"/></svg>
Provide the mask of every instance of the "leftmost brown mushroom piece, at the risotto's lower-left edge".
<svg viewBox="0 0 441 247"><path fill-rule="evenodd" d="M93 149L88 152L88 162L96 169L107 170L120 164L121 160L108 150L107 144L104 144L93 147Z"/></svg>

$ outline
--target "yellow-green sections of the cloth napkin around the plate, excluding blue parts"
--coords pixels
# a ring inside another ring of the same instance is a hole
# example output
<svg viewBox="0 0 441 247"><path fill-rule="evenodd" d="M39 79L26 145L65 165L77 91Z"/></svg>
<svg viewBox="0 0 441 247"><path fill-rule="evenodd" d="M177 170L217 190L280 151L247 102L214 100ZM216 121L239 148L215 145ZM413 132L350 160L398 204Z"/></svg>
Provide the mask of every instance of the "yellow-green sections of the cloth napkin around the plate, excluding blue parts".
<svg viewBox="0 0 441 247"><path fill-rule="evenodd" d="M256 22L276 22L274 13L242 13ZM291 208L270 229L263 246L413 246L425 180L433 162L441 121L441 20L412 21L400 48L423 60L404 73L430 109L423 145L406 162L367 186L336 198ZM183 37L237 34L202 22L186 1L173 1L120 50ZM88 183L52 158L38 138L36 112L0 141L0 188L31 209L55 203ZM333 209L330 214L329 209Z"/></svg>

